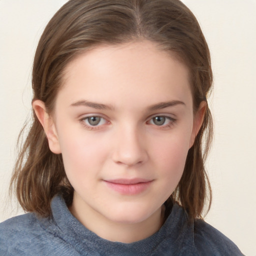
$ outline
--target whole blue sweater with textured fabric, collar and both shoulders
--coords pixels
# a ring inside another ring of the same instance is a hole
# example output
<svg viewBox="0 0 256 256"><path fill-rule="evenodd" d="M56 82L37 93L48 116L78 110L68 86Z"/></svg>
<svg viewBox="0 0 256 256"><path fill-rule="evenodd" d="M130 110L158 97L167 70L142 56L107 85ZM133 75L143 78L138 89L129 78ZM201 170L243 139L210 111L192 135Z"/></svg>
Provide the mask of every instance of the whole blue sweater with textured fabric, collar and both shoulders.
<svg viewBox="0 0 256 256"><path fill-rule="evenodd" d="M189 224L177 204L156 233L132 243L100 238L70 213L60 196L52 199L51 210L50 219L26 213L2 222L0 255L242 255L232 241L203 220Z"/></svg>

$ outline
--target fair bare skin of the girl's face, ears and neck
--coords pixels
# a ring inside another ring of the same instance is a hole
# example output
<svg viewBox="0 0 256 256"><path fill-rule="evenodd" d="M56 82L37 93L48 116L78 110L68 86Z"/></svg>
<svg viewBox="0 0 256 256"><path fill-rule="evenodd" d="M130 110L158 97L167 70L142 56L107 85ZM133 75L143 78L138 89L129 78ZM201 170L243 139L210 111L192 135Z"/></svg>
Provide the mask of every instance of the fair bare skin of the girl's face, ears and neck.
<svg viewBox="0 0 256 256"><path fill-rule="evenodd" d="M205 110L202 102L193 115L187 67L142 40L82 53L63 81L51 115L40 100L33 108L51 151L62 154L74 188L71 213L111 241L150 236L162 225L162 204L180 180ZM128 193L109 186L134 178L148 183Z"/></svg>

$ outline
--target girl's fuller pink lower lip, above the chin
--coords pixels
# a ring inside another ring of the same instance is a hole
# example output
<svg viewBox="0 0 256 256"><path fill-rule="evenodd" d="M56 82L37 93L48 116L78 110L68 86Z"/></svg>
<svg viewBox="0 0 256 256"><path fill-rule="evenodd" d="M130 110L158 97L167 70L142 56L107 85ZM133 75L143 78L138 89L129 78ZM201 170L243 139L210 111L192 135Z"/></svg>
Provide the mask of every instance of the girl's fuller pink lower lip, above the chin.
<svg viewBox="0 0 256 256"><path fill-rule="evenodd" d="M112 183L109 181L105 181L106 185L111 189L127 195L139 194L146 190L148 186L151 184L152 181L148 182L140 182L136 184L119 184L119 183Z"/></svg>

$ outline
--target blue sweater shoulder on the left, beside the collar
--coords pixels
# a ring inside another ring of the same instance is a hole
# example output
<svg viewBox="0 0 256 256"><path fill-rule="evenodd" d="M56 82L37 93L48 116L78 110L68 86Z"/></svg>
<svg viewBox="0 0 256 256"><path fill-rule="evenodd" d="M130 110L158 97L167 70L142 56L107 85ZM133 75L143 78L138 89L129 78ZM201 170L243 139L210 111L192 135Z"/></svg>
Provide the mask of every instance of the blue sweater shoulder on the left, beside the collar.
<svg viewBox="0 0 256 256"><path fill-rule="evenodd" d="M0 255L60 255L70 251L66 242L54 233L57 227L47 218L26 213L0 223ZM73 253L73 255L76 255Z"/></svg>

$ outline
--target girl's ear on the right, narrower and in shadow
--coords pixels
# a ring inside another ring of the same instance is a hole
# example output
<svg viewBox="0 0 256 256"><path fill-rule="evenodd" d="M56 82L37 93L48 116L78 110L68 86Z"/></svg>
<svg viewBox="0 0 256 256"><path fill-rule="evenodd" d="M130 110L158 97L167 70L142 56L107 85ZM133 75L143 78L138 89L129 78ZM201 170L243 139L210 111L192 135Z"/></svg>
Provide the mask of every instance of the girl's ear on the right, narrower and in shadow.
<svg viewBox="0 0 256 256"><path fill-rule="evenodd" d="M189 142L189 148L193 145L195 137L202 125L203 119L204 119L204 114L206 110L206 101L201 101L198 110L196 111L193 119L193 128L192 128L192 133L190 136L190 142Z"/></svg>

